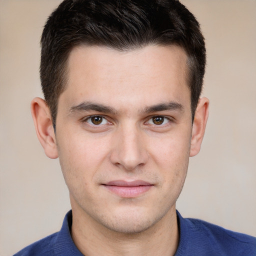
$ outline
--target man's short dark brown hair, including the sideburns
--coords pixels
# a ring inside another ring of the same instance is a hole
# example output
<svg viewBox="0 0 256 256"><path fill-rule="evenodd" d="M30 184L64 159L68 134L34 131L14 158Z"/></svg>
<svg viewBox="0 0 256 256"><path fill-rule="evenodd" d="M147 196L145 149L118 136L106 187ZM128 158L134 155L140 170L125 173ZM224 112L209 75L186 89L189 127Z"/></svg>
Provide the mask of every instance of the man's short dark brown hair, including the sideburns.
<svg viewBox="0 0 256 256"><path fill-rule="evenodd" d="M41 37L40 77L55 127L58 98L67 84L67 59L78 45L130 51L178 45L187 54L192 118L205 70L204 38L193 14L178 0L64 0Z"/></svg>

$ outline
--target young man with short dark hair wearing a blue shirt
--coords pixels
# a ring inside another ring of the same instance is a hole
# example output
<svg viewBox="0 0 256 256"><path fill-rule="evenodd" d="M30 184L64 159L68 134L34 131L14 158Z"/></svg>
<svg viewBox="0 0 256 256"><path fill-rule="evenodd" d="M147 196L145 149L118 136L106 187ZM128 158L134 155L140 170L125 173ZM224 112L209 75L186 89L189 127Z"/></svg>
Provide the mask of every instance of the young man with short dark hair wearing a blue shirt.
<svg viewBox="0 0 256 256"><path fill-rule="evenodd" d="M64 0L41 47L31 111L72 211L15 255L255 255L256 238L175 210L208 116L204 40L181 3Z"/></svg>

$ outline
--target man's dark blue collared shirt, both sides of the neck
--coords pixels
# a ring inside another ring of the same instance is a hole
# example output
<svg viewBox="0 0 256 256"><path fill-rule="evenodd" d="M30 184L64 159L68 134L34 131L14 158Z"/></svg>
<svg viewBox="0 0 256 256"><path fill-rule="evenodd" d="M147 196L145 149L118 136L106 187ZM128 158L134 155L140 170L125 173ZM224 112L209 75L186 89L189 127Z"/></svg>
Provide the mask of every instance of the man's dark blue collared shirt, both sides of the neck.
<svg viewBox="0 0 256 256"><path fill-rule="evenodd" d="M256 237L233 232L206 221L182 218L177 211L179 243L174 256L255 256ZM30 244L13 256L82 256L71 234L72 211L59 232Z"/></svg>

